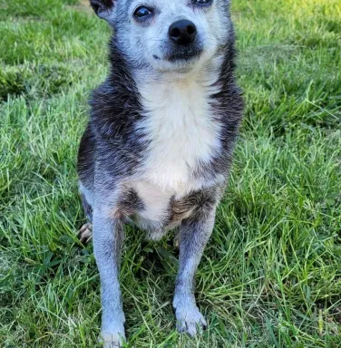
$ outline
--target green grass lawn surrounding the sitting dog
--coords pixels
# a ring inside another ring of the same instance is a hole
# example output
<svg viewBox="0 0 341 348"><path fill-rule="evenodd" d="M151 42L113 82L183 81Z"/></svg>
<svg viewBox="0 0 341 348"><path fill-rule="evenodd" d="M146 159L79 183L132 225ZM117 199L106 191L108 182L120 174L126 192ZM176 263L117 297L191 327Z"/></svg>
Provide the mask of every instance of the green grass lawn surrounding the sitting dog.
<svg viewBox="0 0 341 348"><path fill-rule="evenodd" d="M177 252L127 228L129 347L341 347L341 3L233 5L246 118L197 276L209 329L174 330ZM99 276L75 159L109 30L75 0L0 0L0 346L96 347Z"/></svg>

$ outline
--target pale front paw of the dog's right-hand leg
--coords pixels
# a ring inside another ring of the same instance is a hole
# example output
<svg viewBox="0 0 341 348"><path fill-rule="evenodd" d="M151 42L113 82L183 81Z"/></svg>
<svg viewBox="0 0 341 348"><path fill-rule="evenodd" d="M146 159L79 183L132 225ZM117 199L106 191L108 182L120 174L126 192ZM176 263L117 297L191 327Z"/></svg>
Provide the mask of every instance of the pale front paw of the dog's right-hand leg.
<svg viewBox="0 0 341 348"><path fill-rule="evenodd" d="M180 304L175 309L177 329L180 333L188 333L194 337L198 331L207 326L206 320L196 305Z"/></svg>

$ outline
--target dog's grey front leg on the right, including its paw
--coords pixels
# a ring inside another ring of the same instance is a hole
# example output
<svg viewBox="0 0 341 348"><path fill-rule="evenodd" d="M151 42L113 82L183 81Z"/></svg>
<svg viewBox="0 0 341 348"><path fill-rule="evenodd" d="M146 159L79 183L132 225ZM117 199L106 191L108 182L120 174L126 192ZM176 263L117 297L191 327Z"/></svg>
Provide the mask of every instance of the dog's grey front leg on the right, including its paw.
<svg viewBox="0 0 341 348"><path fill-rule="evenodd" d="M201 214L200 214L201 215ZM198 327L205 327L194 296L194 276L204 248L212 233L215 208L208 214L183 222L180 228L180 264L173 306L180 332L194 336Z"/></svg>

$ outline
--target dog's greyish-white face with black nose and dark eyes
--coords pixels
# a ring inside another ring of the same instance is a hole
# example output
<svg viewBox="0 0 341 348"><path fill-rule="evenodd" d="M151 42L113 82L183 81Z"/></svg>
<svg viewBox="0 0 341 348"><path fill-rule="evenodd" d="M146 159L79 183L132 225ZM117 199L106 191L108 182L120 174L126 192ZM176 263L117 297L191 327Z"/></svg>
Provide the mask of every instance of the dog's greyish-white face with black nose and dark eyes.
<svg viewBox="0 0 341 348"><path fill-rule="evenodd" d="M136 67L188 73L229 41L229 0L91 0Z"/></svg>

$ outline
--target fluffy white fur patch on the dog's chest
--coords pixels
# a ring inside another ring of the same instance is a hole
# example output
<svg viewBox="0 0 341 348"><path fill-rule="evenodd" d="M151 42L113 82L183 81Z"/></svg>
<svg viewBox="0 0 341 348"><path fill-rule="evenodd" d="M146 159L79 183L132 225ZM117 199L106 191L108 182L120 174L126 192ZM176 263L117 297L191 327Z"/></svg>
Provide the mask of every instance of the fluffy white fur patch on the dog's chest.
<svg viewBox="0 0 341 348"><path fill-rule="evenodd" d="M219 151L219 122L211 117L212 89L195 78L144 82L145 118L138 125L150 140L143 180L176 196L195 189L190 169Z"/></svg>

